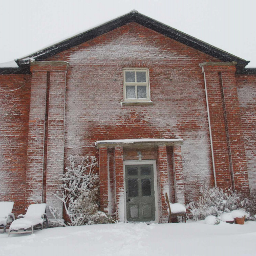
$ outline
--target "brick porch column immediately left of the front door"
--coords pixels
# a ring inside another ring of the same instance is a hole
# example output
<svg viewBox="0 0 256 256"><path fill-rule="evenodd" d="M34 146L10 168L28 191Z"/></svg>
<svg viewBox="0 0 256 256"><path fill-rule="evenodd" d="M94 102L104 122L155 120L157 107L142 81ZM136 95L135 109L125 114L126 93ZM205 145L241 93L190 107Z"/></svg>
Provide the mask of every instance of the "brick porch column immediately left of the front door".
<svg viewBox="0 0 256 256"><path fill-rule="evenodd" d="M123 177L123 147L115 146L116 173L116 217L124 222L124 177Z"/></svg>

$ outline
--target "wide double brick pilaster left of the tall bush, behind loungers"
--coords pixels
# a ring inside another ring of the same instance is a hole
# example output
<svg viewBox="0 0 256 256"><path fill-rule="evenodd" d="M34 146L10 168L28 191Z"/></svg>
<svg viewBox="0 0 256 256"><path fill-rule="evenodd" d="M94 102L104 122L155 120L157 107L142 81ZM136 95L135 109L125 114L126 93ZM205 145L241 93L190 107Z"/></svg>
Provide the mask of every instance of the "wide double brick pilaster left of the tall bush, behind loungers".
<svg viewBox="0 0 256 256"><path fill-rule="evenodd" d="M43 191L47 184L46 202L48 206L58 205L60 212L62 212L62 203L57 202L56 199L52 200L52 193L60 188L60 178L63 174L68 66L68 62L65 61L31 62L26 206L44 200ZM48 87L50 90L47 90ZM48 91L50 92L47 99Z"/></svg>

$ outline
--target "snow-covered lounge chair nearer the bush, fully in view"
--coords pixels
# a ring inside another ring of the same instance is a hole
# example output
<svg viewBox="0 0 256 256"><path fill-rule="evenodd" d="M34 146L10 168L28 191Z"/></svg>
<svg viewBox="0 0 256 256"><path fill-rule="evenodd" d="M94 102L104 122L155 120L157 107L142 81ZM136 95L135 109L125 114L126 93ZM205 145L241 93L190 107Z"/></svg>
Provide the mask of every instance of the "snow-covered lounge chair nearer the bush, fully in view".
<svg viewBox="0 0 256 256"><path fill-rule="evenodd" d="M45 214L46 204L31 204L25 215L19 215L18 219L13 221L10 228L8 237L10 236L11 231L13 233L32 233L34 232L34 226L42 225L44 221L46 222L46 227L48 228L48 219Z"/></svg>

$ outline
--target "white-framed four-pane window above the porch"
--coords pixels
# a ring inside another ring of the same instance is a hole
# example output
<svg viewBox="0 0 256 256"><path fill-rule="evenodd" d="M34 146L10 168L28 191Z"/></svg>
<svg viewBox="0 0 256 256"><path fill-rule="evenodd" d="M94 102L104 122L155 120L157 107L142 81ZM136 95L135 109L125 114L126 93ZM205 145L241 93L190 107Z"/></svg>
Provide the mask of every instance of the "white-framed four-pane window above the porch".
<svg viewBox="0 0 256 256"><path fill-rule="evenodd" d="M150 101L148 69L123 69L124 101Z"/></svg>

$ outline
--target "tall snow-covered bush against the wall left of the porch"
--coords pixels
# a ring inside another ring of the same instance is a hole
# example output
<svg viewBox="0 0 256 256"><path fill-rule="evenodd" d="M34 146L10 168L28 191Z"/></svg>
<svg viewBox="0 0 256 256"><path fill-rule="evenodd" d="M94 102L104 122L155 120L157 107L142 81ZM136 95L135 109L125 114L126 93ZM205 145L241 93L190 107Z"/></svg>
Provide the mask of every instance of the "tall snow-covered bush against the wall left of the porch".
<svg viewBox="0 0 256 256"><path fill-rule="evenodd" d="M75 164L73 156L69 157L70 166L63 174L63 184L55 197L63 202L70 226L90 225L98 223L113 223L110 216L99 211L99 176L95 173L98 162L95 156L82 158L79 165ZM56 209L50 210L60 223Z"/></svg>

